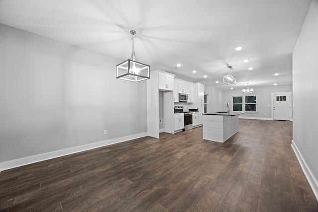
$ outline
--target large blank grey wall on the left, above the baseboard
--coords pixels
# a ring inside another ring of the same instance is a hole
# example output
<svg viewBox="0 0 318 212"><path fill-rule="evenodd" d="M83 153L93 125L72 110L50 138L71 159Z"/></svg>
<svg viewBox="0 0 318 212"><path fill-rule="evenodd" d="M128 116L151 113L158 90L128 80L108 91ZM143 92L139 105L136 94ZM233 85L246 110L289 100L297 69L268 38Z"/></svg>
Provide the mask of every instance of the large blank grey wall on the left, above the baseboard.
<svg viewBox="0 0 318 212"><path fill-rule="evenodd" d="M0 47L0 163L147 132L147 83L116 79L121 61L5 25Z"/></svg>

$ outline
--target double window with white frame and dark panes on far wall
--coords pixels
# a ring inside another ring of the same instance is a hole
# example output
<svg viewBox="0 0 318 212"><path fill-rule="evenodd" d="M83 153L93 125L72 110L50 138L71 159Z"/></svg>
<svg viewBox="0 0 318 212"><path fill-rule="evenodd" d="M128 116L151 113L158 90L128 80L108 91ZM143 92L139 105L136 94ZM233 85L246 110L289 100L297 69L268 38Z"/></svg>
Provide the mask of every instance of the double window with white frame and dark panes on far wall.
<svg viewBox="0 0 318 212"><path fill-rule="evenodd" d="M233 96L233 111L256 112L256 96Z"/></svg>

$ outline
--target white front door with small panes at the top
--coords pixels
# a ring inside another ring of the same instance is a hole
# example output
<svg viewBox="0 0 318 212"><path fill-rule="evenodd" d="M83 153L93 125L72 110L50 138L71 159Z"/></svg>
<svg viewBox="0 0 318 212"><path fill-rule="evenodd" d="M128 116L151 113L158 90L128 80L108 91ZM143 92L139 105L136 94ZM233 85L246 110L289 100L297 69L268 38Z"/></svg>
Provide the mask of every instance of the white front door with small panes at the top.
<svg viewBox="0 0 318 212"><path fill-rule="evenodd" d="M273 119L290 121L290 96L291 94L273 95Z"/></svg>

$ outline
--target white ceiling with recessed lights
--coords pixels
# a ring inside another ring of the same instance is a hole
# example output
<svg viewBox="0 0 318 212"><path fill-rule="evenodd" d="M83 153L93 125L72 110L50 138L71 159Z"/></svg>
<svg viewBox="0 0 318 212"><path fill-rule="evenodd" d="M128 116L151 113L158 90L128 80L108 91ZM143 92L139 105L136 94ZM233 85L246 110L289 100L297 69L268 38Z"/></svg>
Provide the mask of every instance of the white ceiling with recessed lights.
<svg viewBox="0 0 318 212"><path fill-rule="evenodd" d="M220 89L292 83L311 0L0 0L0 23ZM243 46L241 51L235 48ZM243 63L249 59L248 63ZM182 66L176 69L176 64ZM114 64L114 71L115 66ZM249 71L248 68L254 70ZM197 72L192 73L193 70ZM274 73L278 72L278 76ZM203 75L206 74L207 78ZM220 83L216 84L218 80Z"/></svg>

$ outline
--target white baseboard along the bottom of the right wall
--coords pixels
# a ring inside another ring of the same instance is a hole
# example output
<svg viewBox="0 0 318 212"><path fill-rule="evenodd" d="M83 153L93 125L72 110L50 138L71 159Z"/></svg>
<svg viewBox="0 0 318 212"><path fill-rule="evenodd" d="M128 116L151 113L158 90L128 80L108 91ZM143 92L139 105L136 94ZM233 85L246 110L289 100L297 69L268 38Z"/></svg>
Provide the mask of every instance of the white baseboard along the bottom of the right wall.
<svg viewBox="0 0 318 212"><path fill-rule="evenodd" d="M303 172L309 182L310 187L313 189L313 192L315 194L315 197L318 201L318 182L315 176L313 175L313 172L308 167L306 161L304 160L303 155L300 153L296 143L292 140L292 148L294 149L294 152L297 156L297 159L303 169Z"/></svg>

